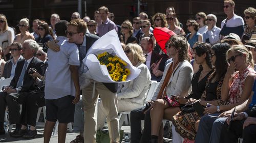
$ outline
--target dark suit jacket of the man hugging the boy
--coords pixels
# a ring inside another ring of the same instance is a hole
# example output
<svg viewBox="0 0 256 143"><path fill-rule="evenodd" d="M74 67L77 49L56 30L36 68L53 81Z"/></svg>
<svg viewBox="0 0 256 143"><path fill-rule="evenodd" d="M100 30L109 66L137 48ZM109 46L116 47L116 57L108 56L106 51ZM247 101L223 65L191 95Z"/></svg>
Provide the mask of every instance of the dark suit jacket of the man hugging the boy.
<svg viewBox="0 0 256 143"><path fill-rule="evenodd" d="M95 41L99 39L98 36L94 34L86 33L86 52L93 45ZM117 83L103 83L106 88L108 88L111 92L117 93L118 84Z"/></svg>

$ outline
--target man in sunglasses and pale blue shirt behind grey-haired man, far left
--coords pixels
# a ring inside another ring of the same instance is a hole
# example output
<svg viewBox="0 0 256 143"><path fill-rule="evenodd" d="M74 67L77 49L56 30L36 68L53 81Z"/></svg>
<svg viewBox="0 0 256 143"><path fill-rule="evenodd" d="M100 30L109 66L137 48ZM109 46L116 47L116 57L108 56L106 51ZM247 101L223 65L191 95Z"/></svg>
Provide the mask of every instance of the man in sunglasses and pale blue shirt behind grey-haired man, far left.
<svg viewBox="0 0 256 143"><path fill-rule="evenodd" d="M15 68L19 60L23 60L22 56L22 44L18 42L13 42L10 45L9 50L11 51L12 59L8 60L4 67L3 76L5 78L13 77L15 73Z"/></svg>

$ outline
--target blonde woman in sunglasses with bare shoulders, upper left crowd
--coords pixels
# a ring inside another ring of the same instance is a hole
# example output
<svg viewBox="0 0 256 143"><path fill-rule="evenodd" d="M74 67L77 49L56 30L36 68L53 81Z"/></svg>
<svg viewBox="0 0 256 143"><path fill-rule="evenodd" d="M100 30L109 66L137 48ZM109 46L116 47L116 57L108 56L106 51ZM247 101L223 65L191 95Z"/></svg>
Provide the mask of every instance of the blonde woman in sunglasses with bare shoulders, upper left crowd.
<svg viewBox="0 0 256 143"><path fill-rule="evenodd" d="M23 44L23 42L27 39L33 39L35 40L34 36L29 33L29 19L23 18L20 19L18 25L20 34L17 34L14 38L15 42L19 42L20 44Z"/></svg>

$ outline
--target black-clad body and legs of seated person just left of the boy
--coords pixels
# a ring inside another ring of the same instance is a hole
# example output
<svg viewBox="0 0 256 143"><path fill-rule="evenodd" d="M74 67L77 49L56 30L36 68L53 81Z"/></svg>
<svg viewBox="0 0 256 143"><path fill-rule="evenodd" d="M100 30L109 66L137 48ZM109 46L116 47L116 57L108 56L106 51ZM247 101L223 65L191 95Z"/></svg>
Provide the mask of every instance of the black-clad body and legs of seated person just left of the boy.
<svg viewBox="0 0 256 143"><path fill-rule="evenodd" d="M17 134L13 135L14 137L35 137L37 135L35 126L38 108L45 106L45 77L40 75L34 69L29 69L29 74L36 79L35 85L37 85L39 90L30 92L30 94L24 99L22 104L22 113L20 114L20 123L22 124L22 128Z"/></svg>

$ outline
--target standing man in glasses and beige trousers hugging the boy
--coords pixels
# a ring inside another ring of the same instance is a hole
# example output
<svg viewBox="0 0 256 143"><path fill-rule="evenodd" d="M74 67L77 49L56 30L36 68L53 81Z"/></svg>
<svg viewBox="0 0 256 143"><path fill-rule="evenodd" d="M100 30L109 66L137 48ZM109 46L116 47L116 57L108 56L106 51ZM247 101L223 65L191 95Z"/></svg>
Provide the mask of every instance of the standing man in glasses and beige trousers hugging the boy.
<svg viewBox="0 0 256 143"><path fill-rule="evenodd" d="M69 42L75 43L79 49L80 72L83 70L82 60L86 57L87 51L98 40L99 37L86 33L87 26L82 19L72 20L76 25L68 25L67 37ZM59 51L59 46L54 41L48 42L48 47ZM100 95L103 106L108 111L108 125L110 127L111 142L119 142L119 120L117 103L117 84L101 83L95 81L95 94L93 94L93 82L82 89L82 99L84 107L84 142L96 142L97 104Z"/></svg>

